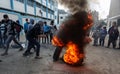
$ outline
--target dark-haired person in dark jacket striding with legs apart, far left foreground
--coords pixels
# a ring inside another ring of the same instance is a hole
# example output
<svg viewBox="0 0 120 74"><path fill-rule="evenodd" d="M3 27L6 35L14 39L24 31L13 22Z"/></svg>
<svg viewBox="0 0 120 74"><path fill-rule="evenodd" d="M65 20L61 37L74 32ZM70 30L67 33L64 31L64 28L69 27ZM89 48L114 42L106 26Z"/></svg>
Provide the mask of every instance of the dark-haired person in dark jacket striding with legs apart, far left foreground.
<svg viewBox="0 0 120 74"><path fill-rule="evenodd" d="M7 39L5 41L5 52L3 54L1 54L1 56L8 55L9 45L10 45L12 40L17 45L20 46L19 51L23 50L22 45L15 38L15 25L19 25L19 24L14 22L14 21L12 21L11 19L9 19L7 14L4 14L3 18L4 19L1 21L1 23L5 24L5 35L7 36ZM21 25L19 25L19 26L21 26Z"/></svg>

